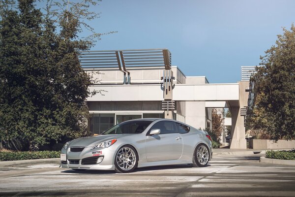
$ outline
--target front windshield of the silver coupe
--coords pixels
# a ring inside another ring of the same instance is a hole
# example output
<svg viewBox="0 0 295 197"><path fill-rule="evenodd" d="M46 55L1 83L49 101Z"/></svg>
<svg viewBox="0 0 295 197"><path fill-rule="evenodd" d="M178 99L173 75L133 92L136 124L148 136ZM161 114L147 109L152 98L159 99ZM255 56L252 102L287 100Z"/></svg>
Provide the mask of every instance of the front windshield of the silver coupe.
<svg viewBox="0 0 295 197"><path fill-rule="evenodd" d="M147 129L147 127L152 123L152 121L134 120L122 122L114 127L111 127L107 131L101 133L102 135L107 134L126 134L126 133L142 133Z"/></svg>

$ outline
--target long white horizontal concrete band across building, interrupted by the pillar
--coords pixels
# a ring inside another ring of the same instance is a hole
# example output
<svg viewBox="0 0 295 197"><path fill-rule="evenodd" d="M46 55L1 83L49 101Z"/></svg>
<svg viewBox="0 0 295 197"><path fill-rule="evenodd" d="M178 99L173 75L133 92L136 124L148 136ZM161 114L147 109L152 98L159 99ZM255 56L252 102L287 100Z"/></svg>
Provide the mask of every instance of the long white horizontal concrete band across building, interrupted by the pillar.
<svg viewBox="0 0 295 197"><path fill-rule="evenodd" d="M163 100L160 84L138 85L99 85L89 87L90 91L105 90L104 96L96 94L88 101L132 101ZM173 89L173 100L238 100L238 84L176 84Z"/></svg>

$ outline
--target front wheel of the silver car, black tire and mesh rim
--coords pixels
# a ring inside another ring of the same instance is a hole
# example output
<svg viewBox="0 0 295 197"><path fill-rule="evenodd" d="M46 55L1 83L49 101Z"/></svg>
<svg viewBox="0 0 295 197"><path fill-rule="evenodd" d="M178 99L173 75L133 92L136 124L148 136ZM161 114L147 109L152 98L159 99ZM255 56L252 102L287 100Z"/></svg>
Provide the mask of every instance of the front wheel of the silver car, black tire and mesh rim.
<svg viewBox="0 0 295 197"><path fill-rule="evenodd" d="M118 173L132 172L137 167L138 155L132 146L121 147L115 158L115 171Z"/></svg>

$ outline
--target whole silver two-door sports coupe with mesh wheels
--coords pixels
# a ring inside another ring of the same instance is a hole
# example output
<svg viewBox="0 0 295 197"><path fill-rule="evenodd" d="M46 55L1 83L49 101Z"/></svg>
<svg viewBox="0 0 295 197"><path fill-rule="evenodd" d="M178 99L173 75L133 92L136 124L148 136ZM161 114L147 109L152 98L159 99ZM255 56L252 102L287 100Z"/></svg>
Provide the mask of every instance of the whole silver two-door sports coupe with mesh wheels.
<svg viewBox="0 0 295 197"><path fill-rule="evenodd" d="M60 167L125 173L154 165L204 167L211 158L212 143L207 132L175 120L145 118L122 122L98 136L65 143Z"/></svg>

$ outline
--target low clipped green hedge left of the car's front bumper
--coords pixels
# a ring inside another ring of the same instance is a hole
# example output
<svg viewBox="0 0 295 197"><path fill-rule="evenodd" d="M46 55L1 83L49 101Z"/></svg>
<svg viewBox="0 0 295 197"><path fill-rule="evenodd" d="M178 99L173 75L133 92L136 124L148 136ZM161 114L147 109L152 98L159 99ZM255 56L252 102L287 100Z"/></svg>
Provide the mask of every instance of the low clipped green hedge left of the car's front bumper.
<svg viewBox="0 0 295 197"><path fill-rule="evenodd" d="M16 151L16 152L0 152L0 161L15 161L15 160L34 160L34 159L49 159L59 158L60 151Z"/></svg>

